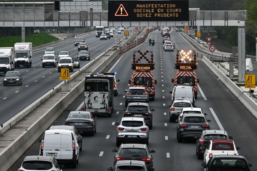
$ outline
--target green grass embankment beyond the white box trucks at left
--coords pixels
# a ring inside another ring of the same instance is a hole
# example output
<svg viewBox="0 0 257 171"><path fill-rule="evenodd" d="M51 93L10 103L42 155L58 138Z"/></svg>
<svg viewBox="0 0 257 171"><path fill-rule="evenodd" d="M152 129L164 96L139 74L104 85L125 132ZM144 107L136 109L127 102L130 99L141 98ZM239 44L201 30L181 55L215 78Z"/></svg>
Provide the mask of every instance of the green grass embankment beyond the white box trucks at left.
<svg viewBox="0 0 257 171"><path fill-rule="evenodd" d="M25 35L25 42L32 42L32 46L39 46L42 44L51 43L59 40L54 36L50 36L46 33L37 33ZM15 43L21 42L21 35L19 36L1 36L0 37L0 47L13 47Z"/></svg>

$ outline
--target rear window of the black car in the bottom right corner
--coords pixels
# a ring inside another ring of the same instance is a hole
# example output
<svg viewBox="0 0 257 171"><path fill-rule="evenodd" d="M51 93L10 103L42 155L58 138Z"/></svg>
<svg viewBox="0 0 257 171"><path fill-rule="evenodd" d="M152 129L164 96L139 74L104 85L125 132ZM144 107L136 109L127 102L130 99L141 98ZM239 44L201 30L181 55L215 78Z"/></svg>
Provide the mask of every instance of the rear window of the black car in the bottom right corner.
<svg viewBox="0 0 257 171"><path fill-rule="evenodd" d="M248 164L243 159L217 158L213 160L211 169L242 170L247 169Z"/></svg>

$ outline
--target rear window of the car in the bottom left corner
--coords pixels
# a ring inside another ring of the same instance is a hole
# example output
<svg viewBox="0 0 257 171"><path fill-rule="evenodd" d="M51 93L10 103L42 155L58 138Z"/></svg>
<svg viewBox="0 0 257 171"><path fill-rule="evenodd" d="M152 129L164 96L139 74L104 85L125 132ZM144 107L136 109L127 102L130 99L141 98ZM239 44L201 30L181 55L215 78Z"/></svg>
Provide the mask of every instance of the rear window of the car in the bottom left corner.
<svg viewBox="0 0 257 171"><path fill-rule="evenodd" d="M48 161L25 161L22 167L26 170L50 170L53 166Z"/></svg>

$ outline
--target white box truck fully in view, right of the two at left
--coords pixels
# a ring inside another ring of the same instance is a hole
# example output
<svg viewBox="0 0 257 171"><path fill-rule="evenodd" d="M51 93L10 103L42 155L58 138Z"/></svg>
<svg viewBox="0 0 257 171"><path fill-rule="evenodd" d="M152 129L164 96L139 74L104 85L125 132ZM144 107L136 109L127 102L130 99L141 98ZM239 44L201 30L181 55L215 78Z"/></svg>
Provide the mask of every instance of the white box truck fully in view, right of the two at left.
<svg viewBox="0 0 257 171"><path fill-rule="evenodd" d="M15 43L15 68L32 66L32 43Z"/></svg>

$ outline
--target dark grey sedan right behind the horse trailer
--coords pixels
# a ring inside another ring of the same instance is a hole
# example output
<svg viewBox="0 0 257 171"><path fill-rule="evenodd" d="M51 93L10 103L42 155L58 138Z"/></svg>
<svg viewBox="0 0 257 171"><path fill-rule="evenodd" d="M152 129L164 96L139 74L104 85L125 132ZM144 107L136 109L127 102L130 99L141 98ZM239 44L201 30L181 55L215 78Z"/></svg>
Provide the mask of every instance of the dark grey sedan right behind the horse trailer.
<svg viewBox="0 0 257 171"><path fill-rule="evenodd" d="M86 111L72 111L69 116L65 116L67 118L65 121L65 125L73 125L76 127L78 131L90 132L91 135L95 135L96 133L96 116L90 112Z"/></svg>

